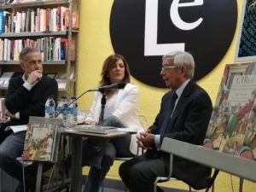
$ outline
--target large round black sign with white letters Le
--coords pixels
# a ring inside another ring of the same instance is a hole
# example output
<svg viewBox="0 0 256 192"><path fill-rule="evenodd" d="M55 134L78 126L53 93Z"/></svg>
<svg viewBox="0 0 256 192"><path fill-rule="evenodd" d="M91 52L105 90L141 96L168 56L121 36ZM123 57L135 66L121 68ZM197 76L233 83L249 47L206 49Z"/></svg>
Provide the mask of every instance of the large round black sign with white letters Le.
<svg viewBox="0 0 256 192"><path fill-rule="evenodd" d="M183 44L183 50L195 58L194 79L198 80L223 59L234 37L236 20L236 0L115 0L110 35L114 51L125 56L133 77L166 87L160 78L161 57L170 51L157 53L158 46ZM144 55L148 44L154 47Z"/></svg>

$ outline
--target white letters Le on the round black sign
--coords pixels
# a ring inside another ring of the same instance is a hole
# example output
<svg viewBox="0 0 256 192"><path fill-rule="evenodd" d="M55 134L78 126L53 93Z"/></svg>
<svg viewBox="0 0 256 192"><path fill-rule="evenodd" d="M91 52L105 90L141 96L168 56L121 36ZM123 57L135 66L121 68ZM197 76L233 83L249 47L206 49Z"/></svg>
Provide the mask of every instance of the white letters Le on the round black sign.
<svg viewBox="0 0 256 192"><path fill-rule="evenodd" d="M157 21L158 21L158 1L146 0L145 11L145 39L144 39L144 55L165 55L174 50L185 50L185 44L157 44ZM179 0L173 0L170 16L173 24L181 30L193 30L201 24L202 18L195 22L185 22L178 14L179 7L199 6L203 4L203 0L195 0L193 3L179 3Z"/></svg>

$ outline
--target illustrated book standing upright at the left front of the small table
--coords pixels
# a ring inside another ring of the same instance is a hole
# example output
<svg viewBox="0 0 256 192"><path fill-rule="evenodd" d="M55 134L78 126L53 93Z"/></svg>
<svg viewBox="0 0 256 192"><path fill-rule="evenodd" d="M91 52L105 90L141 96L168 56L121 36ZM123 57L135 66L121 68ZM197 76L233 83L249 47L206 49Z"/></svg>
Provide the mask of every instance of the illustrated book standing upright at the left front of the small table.
<svg viewBox="0 0 256 192"><path fill-rule="evenodd" d="M57 161L61 119L30 117L27 124L23 160Z"/></svg>

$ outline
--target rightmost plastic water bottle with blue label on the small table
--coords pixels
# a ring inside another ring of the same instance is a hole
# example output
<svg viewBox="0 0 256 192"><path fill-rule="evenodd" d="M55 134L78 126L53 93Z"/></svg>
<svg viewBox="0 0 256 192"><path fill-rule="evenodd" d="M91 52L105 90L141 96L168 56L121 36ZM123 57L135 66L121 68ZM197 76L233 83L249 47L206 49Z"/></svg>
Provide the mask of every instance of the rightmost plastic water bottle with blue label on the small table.
<svg viewBox="0 0 256 192"><path fill-rule="evenodd" d="M71 98L71 105L67 109L67 126L73 127L78 125L78 103L75 101L76 97Z"/></svg>

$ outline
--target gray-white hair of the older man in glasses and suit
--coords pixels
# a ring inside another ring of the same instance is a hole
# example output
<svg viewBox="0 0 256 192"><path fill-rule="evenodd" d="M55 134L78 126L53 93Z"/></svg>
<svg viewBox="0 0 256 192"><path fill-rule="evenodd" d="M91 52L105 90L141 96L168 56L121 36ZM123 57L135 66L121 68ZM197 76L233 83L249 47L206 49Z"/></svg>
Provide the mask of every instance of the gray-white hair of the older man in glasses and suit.
<svg viewBox="0 0 256 192"><path fill-rule="evenodd" d="M163 55L162 60L164 61L166 58L169 57L173 57L174 66L178 68L184 67L187 69L188 79L192 79L194 77L195 61L191 54L185 51L172 51L171 53Z"/></svg>

